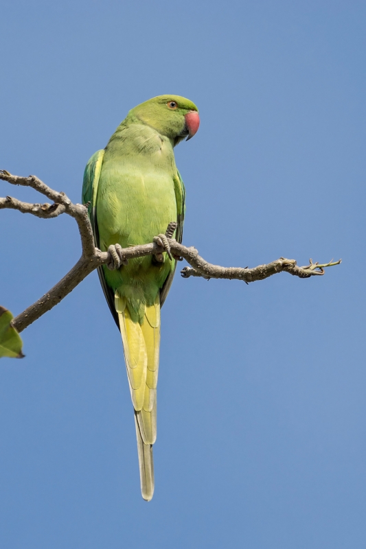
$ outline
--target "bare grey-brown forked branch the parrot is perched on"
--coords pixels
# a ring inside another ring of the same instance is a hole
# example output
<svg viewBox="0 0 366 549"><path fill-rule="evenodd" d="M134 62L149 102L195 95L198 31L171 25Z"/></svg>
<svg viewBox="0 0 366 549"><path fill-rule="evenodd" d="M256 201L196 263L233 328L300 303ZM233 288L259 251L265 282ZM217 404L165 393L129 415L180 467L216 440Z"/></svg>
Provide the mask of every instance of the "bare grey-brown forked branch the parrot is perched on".
<svg viewBox="0 0 366 549"><path fill-rule="evenodd" d="M190 267L185 267L181 270L183 278L202 277L204 279L229 279L242 280L245 283L263 280L271 277L277 272L289 272L295 277L310 278L316 275L325 273L324 268L339 265L339 261L330 262L328 264L313 263L310 259L310 264L305 267L298 267L295 259L285 259L280 257L276 261L272 261L266 265L259 265L249 269L248 267L222 267L207 263L203 257L198 255L198 250L194 247L187 248L183 244L179 244L171 236L176 227L176 223L169 224L165 235L157 235L154 242L150 244L140 244L131 246L130 248L121 248L118 245L110 246L107 252L102 252L95 248L93 229L89 220L87 207L81 204L73 204L65 193L57 192L45 185L43 181L36 176L19 177L13 176L5 170L0 170L0 179L11 183L12 185L23 185L31 187L39 193L47 196L53 201L52 205L47 203L30 204L29 202L21 202L16 198L7 196L0 198L0 209L15 209L22 213L31 213L41 219L52 219L58 217L61 213L67 213L78 223L80 240L82 244L82 255L75 266L63 277L56 285L54 285L47 294L38 299L36 303L30 305L25 311L16 316L12 320L12 326L21 332L40 318L47 311L58 305L67 294L69 294L85 277L93 270L101 265L106 265L108 268L126 263L129 259L135 257L143 257L144 255L157 255L166 251L168 255L172 253L176 259L184 258ZM121 261L120 261L121 260ZM117 261L117 264L116 264ZM123 265L121 267L123 269Z"/></svg>

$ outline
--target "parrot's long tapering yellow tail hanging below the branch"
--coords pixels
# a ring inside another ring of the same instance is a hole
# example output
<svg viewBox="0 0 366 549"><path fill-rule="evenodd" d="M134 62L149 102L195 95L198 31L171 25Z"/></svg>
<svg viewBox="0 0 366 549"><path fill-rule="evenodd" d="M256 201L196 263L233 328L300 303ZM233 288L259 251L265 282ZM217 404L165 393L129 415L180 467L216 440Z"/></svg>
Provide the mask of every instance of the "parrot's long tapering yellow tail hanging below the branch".
<svg viewBox="0 0 366 549"><path fill-rule="evenodd" d="M152 445L157 439L157 377L160 347L160 301L145 307L140 325L130 317L126 298L115 294L115 309L124 346L130 393L135 409L141 494L150 501L154 493Z"/></svg>

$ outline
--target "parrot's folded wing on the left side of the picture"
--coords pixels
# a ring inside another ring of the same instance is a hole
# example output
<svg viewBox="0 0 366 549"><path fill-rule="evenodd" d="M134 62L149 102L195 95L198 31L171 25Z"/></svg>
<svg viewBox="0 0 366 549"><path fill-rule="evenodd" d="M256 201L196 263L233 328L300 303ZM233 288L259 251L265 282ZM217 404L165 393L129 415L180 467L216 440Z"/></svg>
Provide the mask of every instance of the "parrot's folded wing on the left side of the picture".
<svg viewBox="0 0 366 549"><path fill-rule="evenodd" d="M91 226L93 227L94 242L97 248L100 247L99 242L99 231L98 231L98 222L97 222L97 194L98 194L98 183L100 178L100 171L102 170L102 163L104 158L104 149L98 150L91 156L87 166L84 171L84 180L82 182L82 203L88 204L88 213L91 221ZM115 311L115 294L111 288L106 284L106 279L104 277L103 267L98 267L98 276L104 296L108 303L108 307L111 310L112 316L119 327L118 315Z"/></svg>

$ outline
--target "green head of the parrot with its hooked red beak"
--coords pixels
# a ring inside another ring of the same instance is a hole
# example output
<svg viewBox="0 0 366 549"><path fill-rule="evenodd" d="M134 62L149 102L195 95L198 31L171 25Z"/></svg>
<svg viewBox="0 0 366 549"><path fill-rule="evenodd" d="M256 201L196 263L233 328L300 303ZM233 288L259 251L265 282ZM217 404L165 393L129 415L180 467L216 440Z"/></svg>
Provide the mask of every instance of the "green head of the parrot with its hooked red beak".
<svg viewBox="0 0 366 549"><path fill-rule="evenodd" d="M130 114L172 139L174 146L185 137L187 141L191 139L200 125L198 108L180 95L152 97L130 110Z"/></svg>

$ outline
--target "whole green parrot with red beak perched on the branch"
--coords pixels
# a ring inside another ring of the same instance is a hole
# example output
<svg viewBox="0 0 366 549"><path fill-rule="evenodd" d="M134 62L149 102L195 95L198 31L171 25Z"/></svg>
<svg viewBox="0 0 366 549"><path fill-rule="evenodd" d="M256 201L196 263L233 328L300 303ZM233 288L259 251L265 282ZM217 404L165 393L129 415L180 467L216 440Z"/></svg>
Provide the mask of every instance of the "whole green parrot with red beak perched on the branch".
<svg viewBox="0 0 366 549"><path fill-rule="evenodd" d="M154 493L160 309L172 284L176 258L167 249L127 262L121 250L152 242L173 221L174 236L182 241L185 188L173 148L185 137L193 137L199 123L196 105L179 95L159 95L137 105L106 148L91 156L82 186L95 246L111 253L111 263L98 268L98 274L122 335L135 412L141 494L147 501Z"/></svg>

